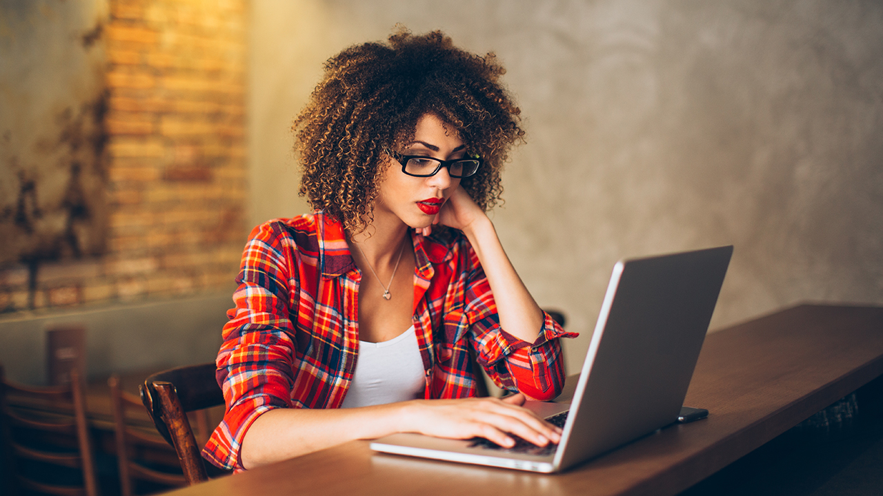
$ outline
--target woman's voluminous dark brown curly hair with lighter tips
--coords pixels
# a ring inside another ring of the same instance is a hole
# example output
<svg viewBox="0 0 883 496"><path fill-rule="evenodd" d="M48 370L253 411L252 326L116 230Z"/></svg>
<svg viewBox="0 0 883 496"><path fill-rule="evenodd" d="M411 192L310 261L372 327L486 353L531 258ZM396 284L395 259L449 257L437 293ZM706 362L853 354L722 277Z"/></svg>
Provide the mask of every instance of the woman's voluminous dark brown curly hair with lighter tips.
<svg viewBox="0 0 883 496"><path fill-rule="evenodd" d="M440 31L401 28L389 44L344 49L325 63L324 79L294 120L299 194L351 233L366 229L389 164L385 150L410 143L419 118L434 113L469 154L484 159L461 184L479 207L493 207L509 147L525 135L520 110L499 82L503 73L493 53L457 49Z"/></svg>

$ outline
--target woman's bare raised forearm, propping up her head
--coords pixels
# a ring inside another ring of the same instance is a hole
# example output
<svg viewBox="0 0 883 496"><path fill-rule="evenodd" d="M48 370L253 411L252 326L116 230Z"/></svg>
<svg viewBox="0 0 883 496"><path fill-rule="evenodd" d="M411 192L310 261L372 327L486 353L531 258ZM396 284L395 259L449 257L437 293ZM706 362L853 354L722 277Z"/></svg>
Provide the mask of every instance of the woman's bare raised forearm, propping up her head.
<svg viewBox="0 0 883 496"><path fill-rule="evenodd" d="M500 316L500 327L526 342L534 342L543 326L543 312L503 251L493 222L482 216L463 229L479 256Z"/></svg>

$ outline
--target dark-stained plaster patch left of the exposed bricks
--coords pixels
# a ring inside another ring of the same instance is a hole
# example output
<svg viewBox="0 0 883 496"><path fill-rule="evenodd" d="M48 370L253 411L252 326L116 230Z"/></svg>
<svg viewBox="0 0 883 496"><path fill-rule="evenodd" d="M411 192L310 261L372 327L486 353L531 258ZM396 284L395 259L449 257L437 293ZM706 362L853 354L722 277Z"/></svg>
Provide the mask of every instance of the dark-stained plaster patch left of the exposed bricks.
<svg viewBox="0 0 883 496"><path fill-rule="evenodd" d="M106 14L106 0L0 6L0 267L104 250Z"/></svg>

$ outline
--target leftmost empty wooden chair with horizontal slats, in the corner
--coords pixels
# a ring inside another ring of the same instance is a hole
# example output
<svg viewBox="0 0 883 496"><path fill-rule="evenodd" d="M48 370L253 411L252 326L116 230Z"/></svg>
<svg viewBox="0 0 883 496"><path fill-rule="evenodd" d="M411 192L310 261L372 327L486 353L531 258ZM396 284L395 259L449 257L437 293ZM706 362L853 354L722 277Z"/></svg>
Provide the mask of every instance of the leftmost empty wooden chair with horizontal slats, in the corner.
<svg viewBox="0 0 883 496"><path fill-rule="evenodd" d="M98 496L84 382L76 368L71 369L70 379L64 386L24 386L6 380L3 366L0 366L0 422L4 446L10 457L7 470L18 479L18 484L11 490ZM11 396L17 404L31 405L31 408L11 407ZM63 470L45 470L46 465L72 469L71 475L74 476L79 471L81 480L62 481L57 476ZM30 477L29 472L34 470L28 469L37 467L41 469L41 476L48 475L57 480L50 482L49 477L41 480Z"/></svg>

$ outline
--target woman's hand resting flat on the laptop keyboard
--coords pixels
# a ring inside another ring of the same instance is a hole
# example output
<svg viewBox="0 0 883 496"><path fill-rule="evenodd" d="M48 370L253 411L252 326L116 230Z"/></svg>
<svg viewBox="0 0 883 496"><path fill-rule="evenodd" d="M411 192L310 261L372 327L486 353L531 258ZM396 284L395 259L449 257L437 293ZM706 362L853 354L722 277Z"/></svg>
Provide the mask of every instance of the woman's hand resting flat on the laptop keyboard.
<svg viewBox="0 0 883 496"><path fill-rule="evenodd" d="M403 405L403 431L458 440L480 437L502 447L515 444L509 433L537 446L560 441L561 429L521 408L524 403L520 393L502 400L413 400Z"/></svg>

